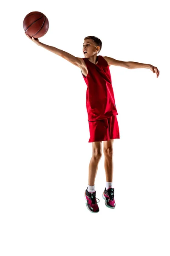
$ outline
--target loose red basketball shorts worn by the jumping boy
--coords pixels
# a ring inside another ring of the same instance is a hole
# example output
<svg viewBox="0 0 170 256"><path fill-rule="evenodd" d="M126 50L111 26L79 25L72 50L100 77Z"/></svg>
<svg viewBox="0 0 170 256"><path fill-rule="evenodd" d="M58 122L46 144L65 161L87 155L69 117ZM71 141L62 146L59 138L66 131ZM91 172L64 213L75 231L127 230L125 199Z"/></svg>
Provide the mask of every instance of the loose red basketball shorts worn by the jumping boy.
<svg viewBox="0 0 170 256"><path fill-rule="evenodd" d="M120 139L117 116L97 121L88 121L90 139L88 142Z"/></svg>

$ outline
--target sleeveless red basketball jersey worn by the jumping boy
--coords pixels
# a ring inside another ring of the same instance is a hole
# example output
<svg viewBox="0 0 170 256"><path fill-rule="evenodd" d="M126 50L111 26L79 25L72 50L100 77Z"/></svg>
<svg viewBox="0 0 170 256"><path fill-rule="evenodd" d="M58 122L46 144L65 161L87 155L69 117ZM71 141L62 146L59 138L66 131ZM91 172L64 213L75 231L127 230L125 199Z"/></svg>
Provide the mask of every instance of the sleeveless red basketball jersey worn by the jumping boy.
<svg viewBox="0 0 170 256"><path fill-rule="evenodd" d="M118 115L108 62L101 55L97 57L97 64L83 58L88 70L86 77L82 75L88 87L86 108L89 122Z"/></svg>

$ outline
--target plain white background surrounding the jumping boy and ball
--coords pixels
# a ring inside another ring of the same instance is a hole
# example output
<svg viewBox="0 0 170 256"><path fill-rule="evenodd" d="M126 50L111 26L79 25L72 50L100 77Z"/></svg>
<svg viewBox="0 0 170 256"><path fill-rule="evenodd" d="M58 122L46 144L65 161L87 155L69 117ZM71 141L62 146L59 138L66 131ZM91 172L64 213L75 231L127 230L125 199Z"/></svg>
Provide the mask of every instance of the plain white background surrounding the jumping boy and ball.
<svg viewBox="0 0 170 256"><path fill-rule="evenodd" d="M99 213L85 206L92 144L87 86L78 67L37 46L23 19L49 20L40 42L83 58L152 64L111 66L120 139L113 143L116 208L105 207L104 155L95 181ZM1 4L0 255L169 256L169 11L167 1L9 1Z"/></svg>

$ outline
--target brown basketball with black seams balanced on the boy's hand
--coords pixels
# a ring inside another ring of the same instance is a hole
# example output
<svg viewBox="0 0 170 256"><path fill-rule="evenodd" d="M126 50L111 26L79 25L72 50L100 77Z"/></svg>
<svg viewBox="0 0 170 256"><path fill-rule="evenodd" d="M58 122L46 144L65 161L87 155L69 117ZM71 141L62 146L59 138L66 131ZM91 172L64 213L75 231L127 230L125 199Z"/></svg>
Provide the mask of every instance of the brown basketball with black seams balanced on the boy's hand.
<svg viewBox="0 0 170 256"><path fill-rule="evenodd" d="M23 20L23 28L29 36L40 38L49 29L48 18L42 12L30 12Z"/></svg>

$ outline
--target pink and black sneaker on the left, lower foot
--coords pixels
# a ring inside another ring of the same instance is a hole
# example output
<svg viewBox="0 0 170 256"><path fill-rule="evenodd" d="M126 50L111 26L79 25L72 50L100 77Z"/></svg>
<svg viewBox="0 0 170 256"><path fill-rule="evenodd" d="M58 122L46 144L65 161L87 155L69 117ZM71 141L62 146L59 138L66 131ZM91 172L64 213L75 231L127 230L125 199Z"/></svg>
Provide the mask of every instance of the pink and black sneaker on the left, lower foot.
<svg viewBox="0 0 170 256"><path fill-rule="evenodd" d="M94 212L94 213L99 212L99 207L97 204L99 202L96 201L96 191L91 193L91 192L88 192L88 188L87 188L85 191L85 201L86 201L86 206L90 212Z"/></svg>

